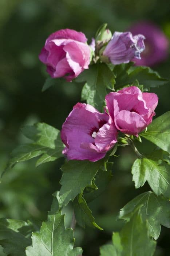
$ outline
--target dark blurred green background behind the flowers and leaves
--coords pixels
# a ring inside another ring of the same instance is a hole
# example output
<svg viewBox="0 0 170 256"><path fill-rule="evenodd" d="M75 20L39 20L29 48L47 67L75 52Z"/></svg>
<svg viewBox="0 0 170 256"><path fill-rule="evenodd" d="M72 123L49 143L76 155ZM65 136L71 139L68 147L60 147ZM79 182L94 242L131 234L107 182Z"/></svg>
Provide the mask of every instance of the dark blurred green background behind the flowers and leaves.
<svg viewBox="0 0 170 256"><path fill-rule="evenodd" d="M37 121L60 129L72 106L80 101L82 84L57 80L57 86L41 92L47 78L46 67L38 54L49 34L59 29L82 31L91 37L102 23L114 32L125 31L139 20L150 20L170 37L170 5L167 0L0 0L0 172L9 153L27 142L21 135L23 125ZM170 59L155 66L170 78ZM169 110L170 87L153 90L158 94L157 116ZM144 146L143 146L144 145ZM149 152L153 145L145 141L139 151ZM98 256L99 246L111 240L112 231L122 227L118 212L134 196L149 190L146 184L136 190L131 177L135 159L131 148L120 148L115 158L113 178L107 191L91 203L96 222L104 231L76 227L76 246L84 256ZM123 160L122 160L123 159ZM52 193L60 189L63 159L35 168L35 160L16 165L5 173L0 184L0 217L43 221L52 202ZM71 206L66 225L70 225ZM156 256L170 255L169 230L162 227ZM0 256L4 256L0 248Z"/></svg>

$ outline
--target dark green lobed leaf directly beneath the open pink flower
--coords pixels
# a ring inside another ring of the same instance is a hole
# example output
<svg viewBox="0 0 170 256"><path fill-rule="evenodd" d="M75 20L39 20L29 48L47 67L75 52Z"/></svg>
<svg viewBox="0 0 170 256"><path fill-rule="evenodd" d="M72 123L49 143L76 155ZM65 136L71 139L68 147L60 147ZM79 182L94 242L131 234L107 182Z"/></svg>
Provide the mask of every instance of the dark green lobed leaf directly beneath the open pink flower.
<svg viewBox="0 0 170 256"><path fill-rule="evenodd" d="M103 164L103 159L97 162L75 161L66 162L61 170L64 172L60 180L60 204L67 205L78 194L83 193L87 185L92 185L92 180Z"/></svg>

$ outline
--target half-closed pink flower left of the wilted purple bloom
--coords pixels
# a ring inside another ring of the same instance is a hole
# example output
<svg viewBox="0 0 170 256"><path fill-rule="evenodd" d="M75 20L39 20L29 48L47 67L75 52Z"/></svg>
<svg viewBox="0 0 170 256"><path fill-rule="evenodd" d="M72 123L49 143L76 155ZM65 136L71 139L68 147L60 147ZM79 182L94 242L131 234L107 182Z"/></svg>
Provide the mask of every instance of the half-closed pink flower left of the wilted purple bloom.
<svg viewBox="0 0 170 256"><path fill-rule="evenodd" d="M82 32L62 29L51 34L39 54L53 78L76 78L90 64L90 48Z"/></svg>

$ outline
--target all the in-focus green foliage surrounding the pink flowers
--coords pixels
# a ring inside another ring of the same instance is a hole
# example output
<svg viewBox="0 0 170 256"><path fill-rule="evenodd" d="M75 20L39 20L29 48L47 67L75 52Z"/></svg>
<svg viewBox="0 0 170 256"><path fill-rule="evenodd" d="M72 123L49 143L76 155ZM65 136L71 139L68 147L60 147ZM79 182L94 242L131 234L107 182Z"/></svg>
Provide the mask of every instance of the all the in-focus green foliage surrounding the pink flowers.
<svg viewBox="0 0 170 256"><path fill-rule="evenodd" d="M150 68L134 67L133 63L116 66L96 63L80 74L76 82L85 83L82 100L102 111L108 92L133 84L142 90L149 90L149 87L163 85L166 79ZM55 82L48 79L43 90L53 84ZM22 131L31 142L12 152L6 169L34 157L38 157L36 166L63 157L64 145L58 129L37 123L24 127ZM120 233L113 234L113 244L100 248L101 256L151 256L156 245L154 240L161 231L160 225L170 227L170 112L156 118L147 131L141 132L139 138L154 143L157 149L135 160L132 167L133 181L135 188L147 181L153 192L138 195L120 210L119 218L127 223ZM65 228L61 211L72 201L78 225L102 230L95 222L88 203L98 197L110 182L113 163L109 159L115 151L116 147L97 162L72 160L64 163L61 167L61 189L55 193L48 220L42 223L40 229L31 222L1 219L0 244L4 252L11 256L82 255L81 248L74 248L73 230Z"/></svg>

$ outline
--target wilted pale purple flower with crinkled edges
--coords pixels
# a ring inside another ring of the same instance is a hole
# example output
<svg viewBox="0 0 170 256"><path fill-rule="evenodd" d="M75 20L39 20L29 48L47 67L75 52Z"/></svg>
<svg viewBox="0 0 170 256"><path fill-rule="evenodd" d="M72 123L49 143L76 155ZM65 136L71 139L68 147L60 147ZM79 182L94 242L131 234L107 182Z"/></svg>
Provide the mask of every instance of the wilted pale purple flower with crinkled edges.
<svg viewBox="0 0 170 256"><path fill-rule="evenodd" d="M108 57L112 64L128 63L134 57L141 59L140 53L145 49L141 34L134 37L130 32L115 32L103 51L103 56Z"/></svg>

